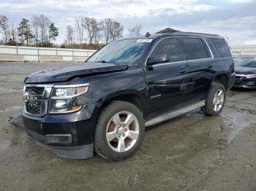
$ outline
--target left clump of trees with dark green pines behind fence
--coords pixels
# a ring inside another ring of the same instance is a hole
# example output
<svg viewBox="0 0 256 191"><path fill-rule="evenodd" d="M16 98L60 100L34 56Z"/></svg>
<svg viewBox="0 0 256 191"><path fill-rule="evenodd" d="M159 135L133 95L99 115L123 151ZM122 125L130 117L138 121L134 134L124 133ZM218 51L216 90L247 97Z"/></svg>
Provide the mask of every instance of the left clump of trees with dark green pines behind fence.
<svg viewBox="0 0 256 191"><path fill-rule="evenodd" d="M31 20L22 18L18 26L10 25L9 18L0 15L1 44L12 46L53 47L59 28L45 15L34 15Z"/></svg>

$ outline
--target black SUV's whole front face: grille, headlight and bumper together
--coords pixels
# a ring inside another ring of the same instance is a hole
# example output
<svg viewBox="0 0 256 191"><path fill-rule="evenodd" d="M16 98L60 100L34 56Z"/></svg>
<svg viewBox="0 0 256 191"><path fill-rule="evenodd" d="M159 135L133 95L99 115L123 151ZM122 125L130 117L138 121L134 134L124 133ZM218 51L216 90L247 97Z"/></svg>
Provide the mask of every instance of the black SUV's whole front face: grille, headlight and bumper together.
<svg viewBox="0 0 256 191"><path fill-rule="evenodd" d="M10 117L9 122L26 130L40 146L60 157L93 157L94 104L84 101L88 90L85 87L83 84L65 85L65 88L64 85L25 85L22 115Z"/></svg>

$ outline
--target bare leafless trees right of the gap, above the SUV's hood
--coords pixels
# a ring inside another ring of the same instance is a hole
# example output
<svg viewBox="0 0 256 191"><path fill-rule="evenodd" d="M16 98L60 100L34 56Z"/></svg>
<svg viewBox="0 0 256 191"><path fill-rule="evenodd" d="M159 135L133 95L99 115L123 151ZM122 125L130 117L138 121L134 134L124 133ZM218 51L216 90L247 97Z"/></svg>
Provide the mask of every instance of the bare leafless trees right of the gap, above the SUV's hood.
<svg viewBox="0 0 256 191"><path fill-rule="evenodd" d="M140 35L141 26L129 28L129 36ZM80 15L75 17L74 25L67 25L66 39L61 47L80 49L99 49L123 37L124 26L111 18L97 20L94 17Z"/></svg>

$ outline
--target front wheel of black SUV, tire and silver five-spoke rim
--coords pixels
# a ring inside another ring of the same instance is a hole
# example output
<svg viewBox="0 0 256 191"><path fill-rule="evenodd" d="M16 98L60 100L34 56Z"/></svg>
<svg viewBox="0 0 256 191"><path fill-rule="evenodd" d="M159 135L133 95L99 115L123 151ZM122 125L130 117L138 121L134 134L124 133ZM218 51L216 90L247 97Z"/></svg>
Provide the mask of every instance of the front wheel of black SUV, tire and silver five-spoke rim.
<svg viewBox="0 0 256 191"><path fill-rule="evenodd" d="M94 149L105 159L125 160L138 151L144 136L144 120L140 109L127 101L113 101L99 114Z"/></svg>

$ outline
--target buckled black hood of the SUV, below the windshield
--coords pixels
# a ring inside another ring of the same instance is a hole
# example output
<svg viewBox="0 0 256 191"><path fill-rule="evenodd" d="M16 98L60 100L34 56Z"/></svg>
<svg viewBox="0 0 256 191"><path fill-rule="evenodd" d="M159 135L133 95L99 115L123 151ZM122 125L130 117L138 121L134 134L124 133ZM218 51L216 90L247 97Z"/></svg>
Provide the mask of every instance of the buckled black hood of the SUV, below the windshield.
<svg viewBox="0 0 256 191"><path fill-rule="evenodd" d="M113 63L82 63L46 69L29 75L25 83L64 82L70 78L86 77L128 69L127 65L116 66Z"/></svg>

